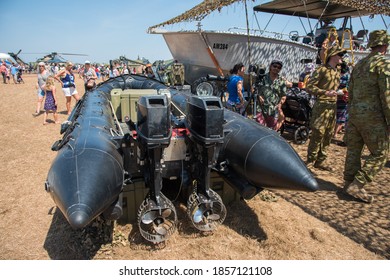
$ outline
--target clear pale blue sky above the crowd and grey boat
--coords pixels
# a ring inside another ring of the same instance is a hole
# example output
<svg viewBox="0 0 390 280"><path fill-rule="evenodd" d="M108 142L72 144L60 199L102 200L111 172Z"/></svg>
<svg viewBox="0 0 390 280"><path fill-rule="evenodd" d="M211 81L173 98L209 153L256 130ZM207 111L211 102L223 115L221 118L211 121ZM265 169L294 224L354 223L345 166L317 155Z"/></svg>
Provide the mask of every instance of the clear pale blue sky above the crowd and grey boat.
<svg viewBox="0 0 390 280"><path fill-rule="evenodd" d="M0 0L0 52L17 52L26 62L35 61L41 54L27 53L80 53L82 56L64 56L74 62L88 59L107 63L125 55L136 59L145 57L151 62L170 59L171 54L162 35L148 34L148 27L166 21L201 3L202 0ZM268 2L256 1L256 4ZM250 22L253 4L248 3ZM260 27L264 28L271 15L257 13ZM274 17L268 29L289 33L296 30L304 34L298 19ZM390 17L385 17L390 25ZM253 21L252 21L253 20ZM305 24L307 21L303 20ZM360 20L355 31L362 29ZM380 17L364 20L368 30L385 29ZM196 29L196 22L165 27L168 30ZM245 27L243 4L233 4L221 12L213 12L202 21L207 30L227 30ZM251 24L251 26L253 26ZM256 27L255 25L254 27ZM337 22L336 22L337 26Z"/></svg>

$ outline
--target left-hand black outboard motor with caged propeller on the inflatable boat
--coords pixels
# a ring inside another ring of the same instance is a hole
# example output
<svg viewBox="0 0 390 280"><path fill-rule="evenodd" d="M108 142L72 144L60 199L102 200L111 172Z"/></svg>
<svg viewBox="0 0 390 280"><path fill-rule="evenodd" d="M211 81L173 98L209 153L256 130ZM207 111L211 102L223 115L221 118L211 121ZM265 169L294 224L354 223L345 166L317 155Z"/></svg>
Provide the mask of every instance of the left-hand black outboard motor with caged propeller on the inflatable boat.
<svg viewBox="0 0 390 280"><path fill-rule="evenodd" d="M148 241L159 243L176 230L177 215L172 202L163 195L162 154L171 139L170 111L166 95L143 96L138 102L137 140L140 166L149 193L138 210L138 226Z"/></svg>

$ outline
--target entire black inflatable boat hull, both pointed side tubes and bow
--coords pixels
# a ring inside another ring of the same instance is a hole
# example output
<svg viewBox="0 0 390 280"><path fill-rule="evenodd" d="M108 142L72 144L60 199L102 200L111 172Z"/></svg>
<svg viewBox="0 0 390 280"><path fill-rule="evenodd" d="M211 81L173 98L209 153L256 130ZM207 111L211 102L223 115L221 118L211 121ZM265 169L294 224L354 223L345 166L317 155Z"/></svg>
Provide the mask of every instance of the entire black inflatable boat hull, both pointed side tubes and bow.
<svg viewBox="0 0 390 280"><path fill-rule="evenodd" d="M74 109L72 127L57 143L46 190L73 228L83 228L118 201L124 182L124 159L110 107L110 92L121 89L167 89L158 81L125 75L89 91ZM170 90L172 102L186 111L188 94ZM76 111L76 112L75 112ZM318 184L292 147L278 134L224 110L225 140L219 162L255 187L315 191ZM237 180L236 180L237 182ZM237 186L239 189L239 186Z"/></svg>

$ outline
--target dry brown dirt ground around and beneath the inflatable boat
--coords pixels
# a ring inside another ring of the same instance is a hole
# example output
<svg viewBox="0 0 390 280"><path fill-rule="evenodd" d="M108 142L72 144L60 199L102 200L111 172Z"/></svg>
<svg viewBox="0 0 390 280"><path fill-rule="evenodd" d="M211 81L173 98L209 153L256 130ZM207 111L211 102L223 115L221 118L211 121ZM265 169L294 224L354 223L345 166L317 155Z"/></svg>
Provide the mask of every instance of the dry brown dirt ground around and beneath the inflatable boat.
<svg viewBox="0 0 390 280"><path fill-rule="evenodd" d="M339 192L345 148L332 145L337 171L316 171L315 193L271 192L227 205L227 218L212 234L190 226L185 207L176 204L179 225L164 245L151 245L136 225L97 220L72 230L44 190L52 144L60 125L33 117L36 74L24 84L0 83L0 259L263 259L378 260L390 258L389 162L369 188L372 205ZM57 83L59 119L67 119ZM77 87L83 92L82 81ZM74 105L74 100L72 101ZM52 119L52 116L49 116ZM288 138L288 135L286 135ZM304 158L307 144L293 147ZM263 199L262 199L263 198ZM266 197L265 197L266 198Z"/></svg>

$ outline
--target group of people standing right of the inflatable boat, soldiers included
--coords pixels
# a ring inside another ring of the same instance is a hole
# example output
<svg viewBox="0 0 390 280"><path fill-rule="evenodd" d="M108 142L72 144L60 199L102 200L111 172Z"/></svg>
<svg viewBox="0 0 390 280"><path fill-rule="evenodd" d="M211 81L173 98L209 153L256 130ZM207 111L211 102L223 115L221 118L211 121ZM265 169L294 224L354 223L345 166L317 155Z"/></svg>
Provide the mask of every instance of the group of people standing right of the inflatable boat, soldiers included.
<svg viewBox="0 0 390 280"><path fill-rule="evenodd" d="M320 66L305 65L299 77L299 88L315 97L306 164L310 170L334 171L327 161L328 150L332 138L344 130L341 144L347 147L347 154L343 190L359 201L372 203L374 197L364 186L384 167L389 154L390 61L385 54L390 35L385 30L371 32L370 54L353 67L343 60L346 50L339 46L337 37L329 39L319 52ZM273 60L265 76L251 89L257 91L256 120L276 131L283 124L282 105L287 88L292 86L279 75L282 67L282 61ZM243 71L244 65L236 64L228 82L227 108L236 112L245 107ZM364 146L370 154L362 164Z"/></svg>

